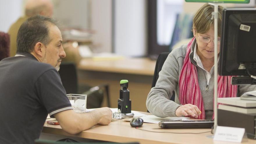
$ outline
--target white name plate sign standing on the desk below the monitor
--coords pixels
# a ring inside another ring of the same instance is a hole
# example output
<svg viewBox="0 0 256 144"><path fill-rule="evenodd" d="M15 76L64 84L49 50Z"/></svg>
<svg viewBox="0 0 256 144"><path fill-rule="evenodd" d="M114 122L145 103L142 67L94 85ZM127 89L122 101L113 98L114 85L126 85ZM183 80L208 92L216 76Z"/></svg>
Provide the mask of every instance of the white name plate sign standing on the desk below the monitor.
<svg viewBox="0 0 256 144"><path fill-rule="evenodd" d="M244 128L217 126L213 140L241 143L244 132Z"/></svg>

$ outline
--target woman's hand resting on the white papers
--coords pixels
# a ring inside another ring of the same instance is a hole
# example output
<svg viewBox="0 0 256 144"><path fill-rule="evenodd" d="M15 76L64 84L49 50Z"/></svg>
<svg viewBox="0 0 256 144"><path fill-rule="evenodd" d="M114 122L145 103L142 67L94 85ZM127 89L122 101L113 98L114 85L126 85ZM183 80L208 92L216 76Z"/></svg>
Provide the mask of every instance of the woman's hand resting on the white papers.
<svg viewBox="0 0 256 144"><path fill-rule="evenodd" d="M188 116L191 115L194 118L198 118L198 116L201 114L201 111L198 109L198 107L196 105L193 104L185 104L183 106L179 106L176 111L175 114L179 117L179 116Z"/></svg>

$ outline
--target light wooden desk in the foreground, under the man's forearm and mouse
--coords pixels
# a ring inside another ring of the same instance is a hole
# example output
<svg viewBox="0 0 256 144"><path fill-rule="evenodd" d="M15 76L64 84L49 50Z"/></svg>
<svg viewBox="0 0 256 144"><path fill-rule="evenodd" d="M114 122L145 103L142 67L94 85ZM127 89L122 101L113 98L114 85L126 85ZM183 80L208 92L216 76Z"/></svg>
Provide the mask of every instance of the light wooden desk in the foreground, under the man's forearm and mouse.
<svg viewBox="0 0 256 144"><path fill-rule="evenodd" d="M141 129L177 133L200 133L211 131L211 129L159 129L158 124L151 123L144 123ZM132 128L130 123L124 120L112 120L112 122L107 126L96 125L91 129L82 131L76 135L66 133L61 129L60 125L49 125L45 123L42 132L120 143L137 141L141 144L229 144L228 142L213 141L213 138L210 138L213 134L210 132L203 134L156 133ZM255 143L256 140L251 139L245 139L245 141L243 141L243 144Z"/></svg>

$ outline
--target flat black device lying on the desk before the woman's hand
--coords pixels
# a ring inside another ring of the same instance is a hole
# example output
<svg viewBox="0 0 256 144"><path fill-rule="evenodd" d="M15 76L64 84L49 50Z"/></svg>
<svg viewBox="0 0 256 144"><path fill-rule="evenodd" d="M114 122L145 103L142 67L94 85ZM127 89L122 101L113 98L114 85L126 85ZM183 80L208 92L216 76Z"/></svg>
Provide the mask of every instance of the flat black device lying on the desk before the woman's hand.
<svg viewBox="0 0 256 144"><path fill-rule="evenodd" d="M211 129L214 120L161 121L158 125L165 129Z"/></svg>

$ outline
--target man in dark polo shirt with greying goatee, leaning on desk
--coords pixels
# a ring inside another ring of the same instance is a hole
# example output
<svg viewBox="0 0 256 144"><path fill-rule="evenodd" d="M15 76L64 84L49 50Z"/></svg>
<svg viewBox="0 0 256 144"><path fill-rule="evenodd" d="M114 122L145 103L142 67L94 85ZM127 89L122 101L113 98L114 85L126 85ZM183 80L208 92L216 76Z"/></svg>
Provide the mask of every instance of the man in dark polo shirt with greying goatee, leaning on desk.
<svg viewBox="0 0 256 144"><path fill-rule="evenodd" d="M34 143L48 113L70 134L111 122L109 108L74 112L57 72L65 56L53 19L34 16L21 25L17 55L0 61L0 143Z"/></svg>

